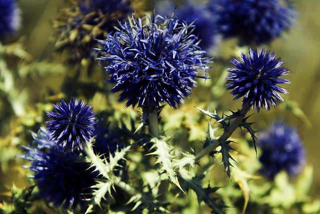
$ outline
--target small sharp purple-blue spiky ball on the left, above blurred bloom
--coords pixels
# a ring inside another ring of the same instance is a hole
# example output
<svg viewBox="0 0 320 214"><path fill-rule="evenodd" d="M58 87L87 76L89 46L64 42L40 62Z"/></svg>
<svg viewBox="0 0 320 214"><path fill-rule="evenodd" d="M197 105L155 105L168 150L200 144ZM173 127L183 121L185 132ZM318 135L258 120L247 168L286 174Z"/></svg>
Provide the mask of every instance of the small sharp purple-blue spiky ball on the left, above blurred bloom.
<svg viewBox="0 0 320 214"><path fill-rule="evenodd" d="M68 104L60 99L60 103L53 104L53 107L56 113L47 111L47 116L52 120L45 122L50 139L56 141L56 145L62 145L63 150L73 151L79 146L82 151L82 143L89 141L93 136L93 107L74 97Z"/></svg>

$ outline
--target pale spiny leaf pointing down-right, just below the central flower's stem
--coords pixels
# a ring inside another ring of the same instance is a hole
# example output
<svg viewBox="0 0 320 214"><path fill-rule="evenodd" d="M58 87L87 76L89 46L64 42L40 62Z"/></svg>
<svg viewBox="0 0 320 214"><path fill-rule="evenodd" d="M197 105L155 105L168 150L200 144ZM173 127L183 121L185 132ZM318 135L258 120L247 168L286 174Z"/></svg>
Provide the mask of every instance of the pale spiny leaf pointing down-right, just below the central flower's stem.
<svg viewBox="0 0 320 214"><path fill-rule="evenodd" d="M152 138L150 140L150 142L153 142L151 149L153 148L154 151L149 153L149 155L157 155L156 163L160 163L162 165L161 170L165 171L169 180L183 191L174 171L175 164L172 161L173 156L170 154L172 148L165 140L167 140L167 138Z"/></svg>

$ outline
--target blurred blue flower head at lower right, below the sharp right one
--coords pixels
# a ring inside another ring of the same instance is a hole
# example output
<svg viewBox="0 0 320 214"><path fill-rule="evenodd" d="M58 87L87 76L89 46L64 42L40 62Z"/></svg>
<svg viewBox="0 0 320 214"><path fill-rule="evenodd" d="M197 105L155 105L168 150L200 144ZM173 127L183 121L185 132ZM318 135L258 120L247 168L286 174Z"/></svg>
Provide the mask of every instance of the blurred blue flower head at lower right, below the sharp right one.
<svg viewBox="0 0 320 214"><path fill-rule="evenodd" d="M283 122L274 123L258 139L262 150L260 171L265 177L273 179L281 170L290 176L296 176L301 171L305 163L305 150L294 127Z"/></svg>

